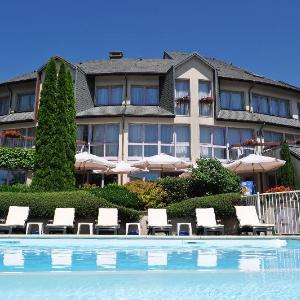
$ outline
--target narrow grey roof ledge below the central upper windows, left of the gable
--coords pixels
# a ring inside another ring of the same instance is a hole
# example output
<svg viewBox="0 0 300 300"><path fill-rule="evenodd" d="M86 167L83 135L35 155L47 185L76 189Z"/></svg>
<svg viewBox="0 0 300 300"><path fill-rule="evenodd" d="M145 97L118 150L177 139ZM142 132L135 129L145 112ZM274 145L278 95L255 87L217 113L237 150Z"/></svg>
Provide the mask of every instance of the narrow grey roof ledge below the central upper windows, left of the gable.
<svg viewBox="0 0 300 300"><path fill-rule="evenodd" d="M173 117L174 114L160 106L99 106L77 113L77 117Z"/></svg>

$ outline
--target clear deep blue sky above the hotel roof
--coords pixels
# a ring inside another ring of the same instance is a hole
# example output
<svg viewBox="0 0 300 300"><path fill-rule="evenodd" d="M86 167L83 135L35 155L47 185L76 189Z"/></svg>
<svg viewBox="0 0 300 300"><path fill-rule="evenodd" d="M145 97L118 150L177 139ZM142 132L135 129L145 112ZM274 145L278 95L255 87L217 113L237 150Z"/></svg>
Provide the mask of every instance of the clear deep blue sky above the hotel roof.
<svg viewBox="0 0 300 300"><path fill-rule="evenodd" d="M77 62L198 51L300 86L300 1L1 1L0 81L51 55Z"/></svg>

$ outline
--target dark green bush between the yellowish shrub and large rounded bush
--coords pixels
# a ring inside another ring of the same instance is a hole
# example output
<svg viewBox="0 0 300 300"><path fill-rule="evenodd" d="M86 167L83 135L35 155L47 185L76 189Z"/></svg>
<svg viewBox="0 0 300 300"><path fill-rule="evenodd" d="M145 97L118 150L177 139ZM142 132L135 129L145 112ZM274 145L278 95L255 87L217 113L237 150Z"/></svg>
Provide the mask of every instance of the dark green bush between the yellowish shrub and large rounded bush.
<svg viewBox="0 0 300 300"><path fill-rule="evenodd" d="M165 177L157 182L167 193L168 204L183 201L191 196L189 178Z"/></svg>

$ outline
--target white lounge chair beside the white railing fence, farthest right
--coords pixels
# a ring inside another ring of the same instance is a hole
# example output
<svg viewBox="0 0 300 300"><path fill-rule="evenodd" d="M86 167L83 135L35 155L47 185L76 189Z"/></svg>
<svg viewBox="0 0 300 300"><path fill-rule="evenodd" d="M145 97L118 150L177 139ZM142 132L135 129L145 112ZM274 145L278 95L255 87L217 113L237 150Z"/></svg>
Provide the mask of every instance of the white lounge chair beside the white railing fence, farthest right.
<svg viewBox="0 0 300 300"><path fill-rule="evenodd" d="M239 233L252 230L253 234L260 234L268 231L275 234L275 224L261 223L255 206L235 206L236 216L239 221Z"/></svg>

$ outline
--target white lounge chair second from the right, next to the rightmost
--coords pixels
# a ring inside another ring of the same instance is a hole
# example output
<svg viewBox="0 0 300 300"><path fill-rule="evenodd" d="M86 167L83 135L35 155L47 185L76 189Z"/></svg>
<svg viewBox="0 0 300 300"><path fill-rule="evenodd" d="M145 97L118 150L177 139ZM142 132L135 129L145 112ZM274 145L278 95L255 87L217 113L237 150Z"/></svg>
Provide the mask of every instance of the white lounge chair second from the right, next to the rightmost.
<svg viewBox="0 0 300 300"><path fill-rule="evenodd" d="M213 208L196 208L197 229L208 232L224 234L224 225L217 224L215 210Z"/></svg>

